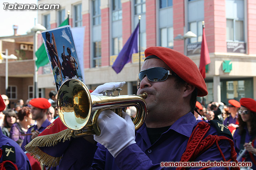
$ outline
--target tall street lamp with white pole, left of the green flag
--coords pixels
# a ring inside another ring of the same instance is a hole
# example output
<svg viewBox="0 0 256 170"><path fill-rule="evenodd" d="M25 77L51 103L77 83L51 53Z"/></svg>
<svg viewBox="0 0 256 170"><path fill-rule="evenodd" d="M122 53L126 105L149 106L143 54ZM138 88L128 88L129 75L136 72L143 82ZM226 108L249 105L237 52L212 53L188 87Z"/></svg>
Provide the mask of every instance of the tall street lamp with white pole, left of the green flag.
<svg viewBox="0 0 256 170"><path fill-rule="evenodd" d="M35 70L34 70L34 98L38 98L38 72L36 67L36 51L37 51L37 34L38 31L45 31L46 28L41 25L40 23L37 23L33 28L31 28L31 31L34 33L34 53L33 53L33 60L35 64ZM40 32L39 32L40 33Z"/></svg>

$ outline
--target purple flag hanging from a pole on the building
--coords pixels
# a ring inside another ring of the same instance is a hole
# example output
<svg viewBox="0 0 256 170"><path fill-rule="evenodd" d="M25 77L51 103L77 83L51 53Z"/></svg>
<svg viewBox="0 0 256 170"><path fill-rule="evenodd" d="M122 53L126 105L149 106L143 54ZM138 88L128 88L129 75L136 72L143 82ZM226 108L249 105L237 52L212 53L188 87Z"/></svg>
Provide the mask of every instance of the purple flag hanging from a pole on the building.
<svg viewBox="0 0 256 170"><path fill-rule="evenodd" d="M126 41L124 47L118 54L116 61L112 65L112 68L116 71L116 74L118 74L123 69L126 63L131 61L133 53L138 53L138 34L139 23L134 29L132 35Z"/></svg>

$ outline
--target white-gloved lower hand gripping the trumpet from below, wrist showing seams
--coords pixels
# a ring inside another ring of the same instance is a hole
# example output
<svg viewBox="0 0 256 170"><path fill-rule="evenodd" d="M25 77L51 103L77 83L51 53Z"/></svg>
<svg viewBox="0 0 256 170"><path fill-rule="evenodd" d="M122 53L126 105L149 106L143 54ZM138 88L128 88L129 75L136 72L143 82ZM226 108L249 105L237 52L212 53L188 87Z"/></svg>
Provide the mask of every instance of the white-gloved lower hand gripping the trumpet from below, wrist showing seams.
<svg viewBox="0 0 256 170"><path fill-rule="evenodd" d="M102 111L98 118L100 136L94 140L104 145L114 158L126 147L135 142L135 127L129 115L123 112L123 118L111 110Z"/></svg>

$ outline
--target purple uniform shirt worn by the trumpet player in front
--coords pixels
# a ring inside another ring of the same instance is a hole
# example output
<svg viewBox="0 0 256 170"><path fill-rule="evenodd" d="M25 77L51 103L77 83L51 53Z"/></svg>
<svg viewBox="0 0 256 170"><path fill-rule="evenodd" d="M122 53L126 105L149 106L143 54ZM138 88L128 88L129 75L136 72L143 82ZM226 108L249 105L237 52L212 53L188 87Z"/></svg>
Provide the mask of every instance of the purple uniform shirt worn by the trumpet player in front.
<svg viewBox="0 0 256 170"><path fill-rule="evenodd" d="M188 139L197 123L194 115L190 112L178 119L153 145L150 143L146 125L136 132L136 143L122 150L116 158L99 143L92 145L83 138L73 139L69 143L68 149L63 154L60 165L51 170L160 170L160 169L175 169L160 167L160 162L179 162L182 154L186 150ZM216 128L210 125L211 128L206 134L217 135ZM122 134L120 134L122 135ZM205 137L206 137L205 136ZM230 159L230 144L228 141L220 141L220 148L224 153L226 160ZM95 152L96 150L96 152ZM95 152L95 154L94 154ZM214 144L206 152L198 156L196 161L216 160L221 161L222 157L216 145ZM191 168L199 169L200 167ZM216 169L221 169L216 167Z"/></svg>

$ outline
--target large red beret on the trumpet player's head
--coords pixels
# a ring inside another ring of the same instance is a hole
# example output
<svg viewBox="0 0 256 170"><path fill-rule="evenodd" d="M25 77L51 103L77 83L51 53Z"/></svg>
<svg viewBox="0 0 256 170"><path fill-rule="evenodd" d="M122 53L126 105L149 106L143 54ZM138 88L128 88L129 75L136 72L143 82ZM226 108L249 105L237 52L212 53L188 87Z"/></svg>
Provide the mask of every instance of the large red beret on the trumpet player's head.
<svg viewBox="0 0 256 170"><path fill-rule="evenodd" d="M198 96L208 94L204 78L198 67L190 58L182 53L166 47L149 47L145 57L155 55L166 63L180 78L197 88Z"/></svg>

